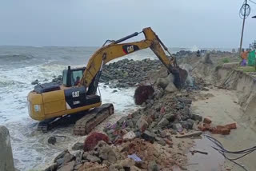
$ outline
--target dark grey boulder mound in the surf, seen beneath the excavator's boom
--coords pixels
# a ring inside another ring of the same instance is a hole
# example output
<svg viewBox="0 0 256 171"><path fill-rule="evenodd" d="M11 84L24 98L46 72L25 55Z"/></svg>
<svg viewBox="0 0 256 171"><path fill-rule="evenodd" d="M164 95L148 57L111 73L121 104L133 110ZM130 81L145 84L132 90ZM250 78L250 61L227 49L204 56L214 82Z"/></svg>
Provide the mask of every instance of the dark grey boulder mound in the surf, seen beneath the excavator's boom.
<svg viewBox="0 0 256 171"><path fill-rule="evenodd" d="M161 66L162 63L159 60L134 61L123 59L103 66L100 82L104 82L106 85L114 82L114 85L110 86L127 88L146 81L149 71L159 70Z"/></svg>

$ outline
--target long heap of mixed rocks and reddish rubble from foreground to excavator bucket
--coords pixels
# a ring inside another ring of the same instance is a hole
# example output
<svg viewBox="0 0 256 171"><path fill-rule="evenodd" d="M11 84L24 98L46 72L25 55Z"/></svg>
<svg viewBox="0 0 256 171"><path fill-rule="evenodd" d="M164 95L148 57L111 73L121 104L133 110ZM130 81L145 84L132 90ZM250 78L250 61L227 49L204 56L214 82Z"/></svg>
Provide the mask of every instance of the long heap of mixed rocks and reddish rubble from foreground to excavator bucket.
<svg viewBox="0 0 256 171"><path fill-rule="evenodd" d="M155 88L153 97L136 112L107 125L106 134L91 133L82 147L74 145L75 153L64 151L46 171L50 170L172 170L186 164L186 156L174 153L182 150L176 134L191 132L202 117L190 113L190 94L165 93ZM95 137L95 138L93 138ZM103 140L103 141L101 141ZM185 150L185 146L183 146ZM83 150L84 148L85 150Z"/></svg>

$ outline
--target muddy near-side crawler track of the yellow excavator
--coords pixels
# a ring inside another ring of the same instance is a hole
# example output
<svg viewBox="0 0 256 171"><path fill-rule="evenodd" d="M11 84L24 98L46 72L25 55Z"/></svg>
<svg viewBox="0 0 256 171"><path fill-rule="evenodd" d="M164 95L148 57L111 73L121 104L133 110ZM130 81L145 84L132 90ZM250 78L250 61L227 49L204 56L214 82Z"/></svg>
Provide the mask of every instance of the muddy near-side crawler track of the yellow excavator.
<svg viewBox="0 0 256 171"><path fill-rule="evenodd" d="M110 103L103 104L90 110L84 117L76 121L74 125L74 135L86 135L90 133L95 126L114 113L114 105Z"/></svg>

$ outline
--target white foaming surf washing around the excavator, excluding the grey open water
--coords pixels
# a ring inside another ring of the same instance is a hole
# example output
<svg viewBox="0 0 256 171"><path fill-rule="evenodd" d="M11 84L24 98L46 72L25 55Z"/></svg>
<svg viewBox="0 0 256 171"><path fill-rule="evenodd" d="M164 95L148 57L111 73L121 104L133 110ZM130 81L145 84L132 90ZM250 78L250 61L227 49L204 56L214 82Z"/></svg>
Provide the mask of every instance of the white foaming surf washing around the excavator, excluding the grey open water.
<svg viewBox="0 0 256 171"><path fill-rule="evenodd" d="M38 132L38 121L32 120L28 115L26 96L34 89L31 82L35 79L39 82L50 82L53 75L62 74L65 68L66 66L54 64L0 69L0 125L6 125L10 130L14 164L20 170L42 167L75 141L84 138L75 137L71 126L54 129L49 133ZM114 89L108 86L100 85L99 89L103 103L114 103L115 114L110 117L111 123L134 109L134 89L116 89L118 91L115 93ZM109 121L104 121L95 130L102 130L107 122ZM49 145L47 139L53 135L62 135L66 138L58 138L56 145Z"/></svg>

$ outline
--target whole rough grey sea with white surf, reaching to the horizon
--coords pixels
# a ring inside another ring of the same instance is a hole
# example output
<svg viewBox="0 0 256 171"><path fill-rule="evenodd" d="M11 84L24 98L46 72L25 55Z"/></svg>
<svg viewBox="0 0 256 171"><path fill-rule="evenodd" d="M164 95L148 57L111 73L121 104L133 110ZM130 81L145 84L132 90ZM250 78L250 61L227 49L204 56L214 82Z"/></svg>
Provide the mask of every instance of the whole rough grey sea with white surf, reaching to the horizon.
<svg viewBox="0 0 256 171"><path fill-rule="evenodd" d="M83 141L85 137L74 136L70 126L48 133L37 131L38 121L31 119L28 114L27 94L34 89L31 82L36 79L40 83L50 82L61 75L67 66L86 66L96 50L98 47L0 46L0 125L5 125L10 131L16 169L42 170L58 153L77 141ZM172 54L179 50L196 51L198 47L170 48ZM157 59L152 51L140 50L112 62L123 58ZM134 105L134 88L111 89L109 86L99 85L99 89L102 102L114 104L115 114L95 130L102 129L104 124L114 122L138 108ZM118 91L114 93L114 90ZM58 137L55 145L47 142L51 136Z"/></svg>

